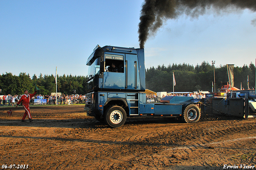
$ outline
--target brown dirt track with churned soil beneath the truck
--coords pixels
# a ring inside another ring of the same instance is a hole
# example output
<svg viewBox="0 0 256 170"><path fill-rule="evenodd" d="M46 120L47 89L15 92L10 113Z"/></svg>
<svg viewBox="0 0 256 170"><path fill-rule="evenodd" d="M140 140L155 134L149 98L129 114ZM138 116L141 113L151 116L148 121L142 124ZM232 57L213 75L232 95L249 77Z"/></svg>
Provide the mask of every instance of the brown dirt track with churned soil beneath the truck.
<svg viewBox="0 0 256 170"><path fill-rule="evenodd" d="M6 114L9 107L0 107L0 168L6 164L25 164L30 170L256 166L255 118L202 115L195 124L127 118L124 126L113 129L86 116L83 107L32 106L33 122L21 122L21 106L11 117Z"/></svg>

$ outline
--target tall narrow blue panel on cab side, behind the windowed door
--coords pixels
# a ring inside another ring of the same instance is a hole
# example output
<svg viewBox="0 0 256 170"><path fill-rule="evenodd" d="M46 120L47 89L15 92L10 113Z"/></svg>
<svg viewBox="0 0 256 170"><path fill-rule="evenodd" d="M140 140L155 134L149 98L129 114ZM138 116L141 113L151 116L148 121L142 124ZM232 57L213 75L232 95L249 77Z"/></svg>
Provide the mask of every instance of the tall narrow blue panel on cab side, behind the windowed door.
<svg viewBox="0 0 256 170"><path fill-rule="evenodd" d="M140 90L138 89L140 78L138 74L138 58L137 55L125 54L125 75L126 84L125 88L128 90Z"/></svg>

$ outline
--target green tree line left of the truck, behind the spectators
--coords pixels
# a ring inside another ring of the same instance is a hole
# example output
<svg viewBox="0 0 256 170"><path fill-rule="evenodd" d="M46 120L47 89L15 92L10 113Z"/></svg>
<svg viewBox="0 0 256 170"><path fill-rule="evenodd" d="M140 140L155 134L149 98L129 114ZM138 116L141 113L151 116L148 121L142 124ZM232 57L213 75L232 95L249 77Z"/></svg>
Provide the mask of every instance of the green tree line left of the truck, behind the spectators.
<svg viewBox="0 0 256 170"><path fill-rule="evenodd" d="M72 76L70 75L57 75L57 92L63 94L74 94L73 90L76 90L77 94L86 94L87 83L86 76ZM36 86L40 89L40 94L49 95L52 92L56 92L55 76L54 75L40 75L37 77L34 74L30 77L29 74L24 72L18 76L7 73L0 75L0 89L2 94L23 94L27 89L29 92L34 92Z"/></svg>

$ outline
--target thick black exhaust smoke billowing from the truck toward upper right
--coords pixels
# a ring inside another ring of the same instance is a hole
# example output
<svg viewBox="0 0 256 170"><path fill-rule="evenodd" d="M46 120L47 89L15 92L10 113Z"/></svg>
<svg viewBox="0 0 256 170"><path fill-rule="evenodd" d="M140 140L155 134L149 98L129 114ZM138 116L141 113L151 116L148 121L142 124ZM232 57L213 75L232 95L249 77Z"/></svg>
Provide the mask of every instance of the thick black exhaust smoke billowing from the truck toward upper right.
<svg viewBox="0 0 256 170"><path fill-rule="evenodd" d="M145 0L138 30L140 48L144 48L148 36L154 34L166 20L175 19L182 14L198 17L212 7L215 10L225 10L228 7L234 10L248 8L255 12L256 0Z"/></svg>

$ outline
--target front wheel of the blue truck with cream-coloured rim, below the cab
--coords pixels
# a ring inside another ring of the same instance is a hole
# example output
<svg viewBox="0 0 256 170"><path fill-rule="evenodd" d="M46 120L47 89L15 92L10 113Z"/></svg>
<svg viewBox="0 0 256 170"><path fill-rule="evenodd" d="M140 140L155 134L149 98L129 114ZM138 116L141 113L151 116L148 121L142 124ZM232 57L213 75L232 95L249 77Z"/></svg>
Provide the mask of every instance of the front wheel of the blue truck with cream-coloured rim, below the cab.
<svg viewBox="0 0 256 170"><path fill-rule="evenodd" d="M126 112L120 106L110 106L104 114L105 122L112 128L121 127L126 121Z"/></svg>

